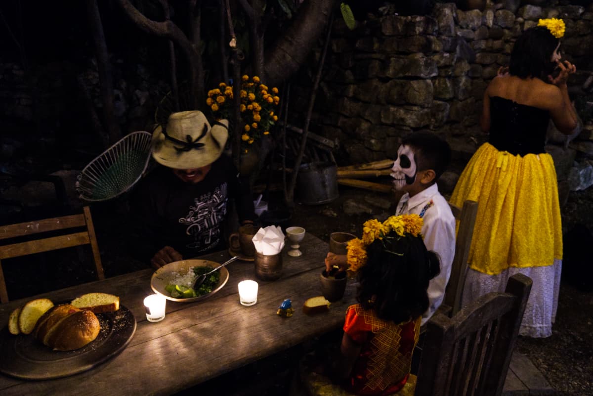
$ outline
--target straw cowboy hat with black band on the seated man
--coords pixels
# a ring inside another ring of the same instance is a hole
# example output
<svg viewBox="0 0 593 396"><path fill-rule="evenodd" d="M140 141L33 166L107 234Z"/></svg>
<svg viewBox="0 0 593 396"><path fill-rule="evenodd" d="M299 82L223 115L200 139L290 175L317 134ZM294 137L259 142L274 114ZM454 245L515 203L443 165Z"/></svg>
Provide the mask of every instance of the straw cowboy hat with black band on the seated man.
<svg viewBox="0 0 593 396"><path fill-rule="evenodd" d="M174 169L205 167L216 161L228 139L228 120L210 126L202 111L181 111L152 133L152 158Z"/></svg>

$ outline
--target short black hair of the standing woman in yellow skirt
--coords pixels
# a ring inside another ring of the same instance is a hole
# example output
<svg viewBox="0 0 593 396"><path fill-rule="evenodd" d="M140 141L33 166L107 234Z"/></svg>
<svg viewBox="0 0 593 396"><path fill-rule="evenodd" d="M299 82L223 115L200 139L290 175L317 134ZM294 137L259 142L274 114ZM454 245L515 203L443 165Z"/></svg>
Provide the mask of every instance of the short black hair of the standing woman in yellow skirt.
<svg viewBox="0 0 593 396"><path fill-rule="evenodd" d="M547 81L546 76L556 67L550 59L559 41L547 27L525 30L513 46L509 73L520 78L537 77Z"/></svg>

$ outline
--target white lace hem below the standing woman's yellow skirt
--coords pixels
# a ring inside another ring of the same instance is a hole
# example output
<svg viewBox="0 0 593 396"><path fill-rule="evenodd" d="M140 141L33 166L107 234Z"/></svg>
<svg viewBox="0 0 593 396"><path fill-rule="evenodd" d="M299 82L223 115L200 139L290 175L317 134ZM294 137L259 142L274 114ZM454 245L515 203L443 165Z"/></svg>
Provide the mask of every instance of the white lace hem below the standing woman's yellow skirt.
<svg viewBox="0 0 593 396"><path fill-rule="evenodd" d="M552 324L556 320L556 309L558 308L562 260L554 260L553 265L545 267L511 267L497 275L468 269L461 296L462 306L486 293L504 292L509 277L517 273L522 273L533 280L519 334L528 337L551 336Z"/></svg>

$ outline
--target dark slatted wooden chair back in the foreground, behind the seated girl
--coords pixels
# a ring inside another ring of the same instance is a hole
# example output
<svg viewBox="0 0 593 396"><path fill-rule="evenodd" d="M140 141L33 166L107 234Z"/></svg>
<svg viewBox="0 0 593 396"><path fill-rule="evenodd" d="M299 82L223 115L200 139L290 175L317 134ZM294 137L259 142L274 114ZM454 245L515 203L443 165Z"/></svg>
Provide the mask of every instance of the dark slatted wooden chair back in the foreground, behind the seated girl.
<svg viewBox="0 0 593 396"><path fill-rule="evenodd" d="M531 284L515 274L505 293L488 293L452 318L436 312L428 321L415 395L502 394Z"/></svg>

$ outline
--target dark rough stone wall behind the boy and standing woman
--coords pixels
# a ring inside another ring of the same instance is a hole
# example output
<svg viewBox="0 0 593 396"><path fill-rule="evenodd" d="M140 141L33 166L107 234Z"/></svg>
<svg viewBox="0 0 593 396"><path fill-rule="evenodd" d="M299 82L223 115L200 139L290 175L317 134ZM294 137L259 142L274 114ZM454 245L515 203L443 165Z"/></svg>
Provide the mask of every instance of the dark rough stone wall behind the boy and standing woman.
<svg viewBox="0 0 593 396"><path fill-rule="evenodd" d="M593 70L593 12L579 6L526 5L514 14L437 4L427 16L369 15L353 31L336 18L311 130L337 139L347 163L389 158L401 136L419 129L442 134L467 159L486 139L478 122L487 84L508 66L521 32L547 17L565 20L563 57ZM319 53L293 88L292 114L306 111Z"/></svg>

